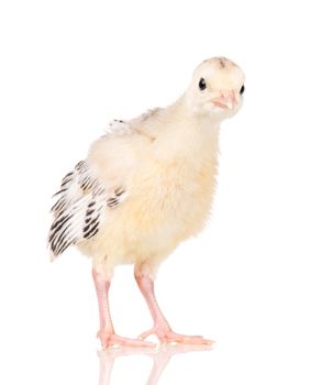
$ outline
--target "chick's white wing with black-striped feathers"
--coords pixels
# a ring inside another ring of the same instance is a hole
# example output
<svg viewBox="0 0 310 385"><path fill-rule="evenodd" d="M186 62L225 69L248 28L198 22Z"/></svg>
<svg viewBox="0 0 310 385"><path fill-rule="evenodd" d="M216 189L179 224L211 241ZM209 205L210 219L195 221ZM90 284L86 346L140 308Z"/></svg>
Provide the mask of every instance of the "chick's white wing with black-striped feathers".
<svg viewBox="0 0 310 385"><path fill-rule="evenodd" d="M54 221L48 246L52 260L68 246L95 237L104 221L107 209L113 209L124 198L124 189L109 189L97 178L87 161L79 162L62 180L52 207Z"/></svg>

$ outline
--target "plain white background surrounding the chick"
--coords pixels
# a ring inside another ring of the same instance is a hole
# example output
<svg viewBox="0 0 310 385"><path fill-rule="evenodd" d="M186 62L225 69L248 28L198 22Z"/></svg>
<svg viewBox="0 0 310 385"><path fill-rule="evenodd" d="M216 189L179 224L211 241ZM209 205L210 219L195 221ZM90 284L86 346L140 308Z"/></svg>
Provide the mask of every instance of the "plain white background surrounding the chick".
<svg viewBox="0 0 310 385"><path fill-rule="evenodd" d="M173 102L213 55L242 66L245 103L222 128L209 227L163 264L157 294L177 331L218 348L175 354L158 384L309 384L306 7L1 2L1 384L98 384L90 262L70 250L49 264L49 197L109 120ZM111 307L119 333L151 327L132 266L117 270ZM110 384L146 384L151 367L117 358Z"/></svg>

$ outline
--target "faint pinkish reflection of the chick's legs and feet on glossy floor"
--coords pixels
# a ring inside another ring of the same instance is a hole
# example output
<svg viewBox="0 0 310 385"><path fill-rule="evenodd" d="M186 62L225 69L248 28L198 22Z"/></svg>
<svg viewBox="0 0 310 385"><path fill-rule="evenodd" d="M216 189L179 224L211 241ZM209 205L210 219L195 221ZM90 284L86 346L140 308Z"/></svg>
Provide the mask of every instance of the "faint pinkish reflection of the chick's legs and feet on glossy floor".
<svg viewBox="0 0 310 385"><path fill-rule="evenodd" d="M100 358L100 374L99 385L110 385L111 375L113 371L114 361L118 358L132 355L132 354L144 354L153 360L153 366L150 372L146 385L156 385L168 365L170 359L175 354L191 353L198 351L212 350L206 346L193 346L193 345L178 345L167 344L162 345L157 350L153 349L137 349L137 348L110 348L99 352Z"/></svg>

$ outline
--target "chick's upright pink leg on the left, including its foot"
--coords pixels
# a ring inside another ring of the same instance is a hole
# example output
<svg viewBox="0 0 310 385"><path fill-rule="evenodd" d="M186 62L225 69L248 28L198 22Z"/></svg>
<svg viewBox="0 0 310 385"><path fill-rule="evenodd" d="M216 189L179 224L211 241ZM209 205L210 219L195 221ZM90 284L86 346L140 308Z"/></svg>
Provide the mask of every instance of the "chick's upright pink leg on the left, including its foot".
<svg viewBox="0 0 310 385"><path fill-rule="evenodd" d="M96 286L99 317L100 317L100 330L97 337L101 341L102 348L110 345L124 345L124 346L140 346L140 348L154 348L155 344L141 340L132 340L129 338L117 336L114 332L110 308L109 308L109 288L110 280L104 278L103 274L97 273L92 270L92 277Z"/></svg>

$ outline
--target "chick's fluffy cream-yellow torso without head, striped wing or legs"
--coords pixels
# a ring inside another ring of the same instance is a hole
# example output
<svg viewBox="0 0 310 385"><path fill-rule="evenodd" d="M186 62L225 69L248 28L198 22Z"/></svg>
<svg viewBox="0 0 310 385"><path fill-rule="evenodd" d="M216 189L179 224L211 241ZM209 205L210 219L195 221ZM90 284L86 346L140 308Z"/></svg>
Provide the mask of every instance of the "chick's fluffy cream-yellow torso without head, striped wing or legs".
<svg viewBox="0 0 310 385"><path fill-rule="evenodd" d="M102 184L126 191L121 206L106 211L98 234L79 245L97 268L146 260L155 268L202 229L214 191L219 127L186 112L179 102L142 116L90 147L88 162Z"/></svg>

